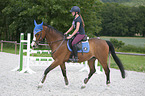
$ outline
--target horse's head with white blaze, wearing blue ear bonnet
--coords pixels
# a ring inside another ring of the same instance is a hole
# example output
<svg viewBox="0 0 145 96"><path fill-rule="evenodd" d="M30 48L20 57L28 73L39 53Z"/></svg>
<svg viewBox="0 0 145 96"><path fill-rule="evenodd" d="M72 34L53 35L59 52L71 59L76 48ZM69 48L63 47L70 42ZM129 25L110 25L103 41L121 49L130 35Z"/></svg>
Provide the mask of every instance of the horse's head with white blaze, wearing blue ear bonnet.
<svg viewBox="0 0 145 96"><path fill-rule="evenodd" d="M38 46L38 43L42 41L45 37L45 32L43 30L43 22L41 24L37 24L36 21L34 20L34 25L35 25L35 28L33 31L34 37L31 43L32 47Z"/></svg>

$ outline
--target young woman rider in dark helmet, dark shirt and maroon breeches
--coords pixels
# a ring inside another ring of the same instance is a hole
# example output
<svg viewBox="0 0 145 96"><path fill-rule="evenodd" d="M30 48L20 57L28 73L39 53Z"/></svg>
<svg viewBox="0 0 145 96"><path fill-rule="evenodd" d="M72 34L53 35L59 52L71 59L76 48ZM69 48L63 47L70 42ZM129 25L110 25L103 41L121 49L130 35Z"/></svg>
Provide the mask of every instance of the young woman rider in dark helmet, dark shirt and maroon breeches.
<svg viewBox="0 0 145 96"><path fill-rule="evenodd" d="M74 20L72 22L72 26L69 28L69 30L65 34L68 34L70 31L75 29L74 32L69 37L67 37L67 39L70 39L73 36L75 36L74 40L72 41L72 48L73 48L72 53L74 57L72 56L70 60L77 62L78 61L77 43L81 41L85 36L85 30L84 30L85 24L84 24L82 16L80 15L80 8L78 6L73 6L70 12L74 16Z"/></svg>

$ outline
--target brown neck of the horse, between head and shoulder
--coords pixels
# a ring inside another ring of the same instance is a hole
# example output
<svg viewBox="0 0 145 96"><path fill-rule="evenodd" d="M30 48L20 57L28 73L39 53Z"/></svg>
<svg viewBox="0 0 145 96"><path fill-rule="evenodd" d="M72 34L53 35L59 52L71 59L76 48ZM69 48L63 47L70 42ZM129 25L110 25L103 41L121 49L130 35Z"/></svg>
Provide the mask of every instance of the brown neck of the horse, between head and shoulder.
<svg viewBox="0 0 145 96"><path fill-rule="evenodd" d="M59 44L62 42L59 40L62 40L63 38L63 35L56 32L56 30L47 28L46 40L52 51L54 51L59 46Z"/></svg>

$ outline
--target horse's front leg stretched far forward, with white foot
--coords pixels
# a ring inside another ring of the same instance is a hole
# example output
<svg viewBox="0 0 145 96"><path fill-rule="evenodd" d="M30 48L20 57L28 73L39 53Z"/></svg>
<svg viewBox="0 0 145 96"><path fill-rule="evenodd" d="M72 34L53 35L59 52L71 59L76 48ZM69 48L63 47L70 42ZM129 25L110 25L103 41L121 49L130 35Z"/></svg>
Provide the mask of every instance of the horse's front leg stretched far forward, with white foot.
<svg viewBox="0 0 145 96"><path fill-rule="evenodd" d="M42 88L43 87L43 83L46 79L46 76L48 74L48 72L50 72L52 69L54 69L55 67L57 67L58 65L60 65L60 62L58 61L54 61L45 71L44 74L42 76L42 79L40 80L39 84L38 84L38 88Z"/></svg>

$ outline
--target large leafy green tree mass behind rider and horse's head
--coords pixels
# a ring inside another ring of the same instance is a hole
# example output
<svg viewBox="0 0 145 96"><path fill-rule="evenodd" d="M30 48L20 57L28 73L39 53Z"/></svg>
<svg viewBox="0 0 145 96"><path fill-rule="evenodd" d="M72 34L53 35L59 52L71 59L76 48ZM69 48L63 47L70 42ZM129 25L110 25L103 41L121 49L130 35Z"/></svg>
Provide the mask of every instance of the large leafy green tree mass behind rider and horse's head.
<svg viewBox="0 0 145 96"><path fill-rule="evenodd" d="M2 0L4 1L4 0ZM99 0L9 0L1 9L5 17L5 26L0 27L6 40L19 41L19 35L33 33L34 19L41 23L47 23L65 32L72 24L73 16L69 12L72 6L79 6L85 21L85 30L89 36L101 30L101 20L96 17L99 12ZM0 21L0 23L2 20Z"/></svg>

